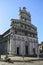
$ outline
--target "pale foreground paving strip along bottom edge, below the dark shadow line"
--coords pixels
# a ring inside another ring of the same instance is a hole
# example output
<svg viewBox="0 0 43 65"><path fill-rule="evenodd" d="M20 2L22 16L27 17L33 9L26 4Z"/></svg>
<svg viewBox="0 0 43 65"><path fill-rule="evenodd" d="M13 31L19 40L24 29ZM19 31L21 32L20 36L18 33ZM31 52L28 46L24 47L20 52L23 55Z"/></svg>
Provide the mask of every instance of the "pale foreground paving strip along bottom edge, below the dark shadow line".
<svg viewBox="0 0 43 65"><path fill-rule="evenodd" d="M32 62L0 62L0 65L43 65L43 61L32 61Z"/></svg>

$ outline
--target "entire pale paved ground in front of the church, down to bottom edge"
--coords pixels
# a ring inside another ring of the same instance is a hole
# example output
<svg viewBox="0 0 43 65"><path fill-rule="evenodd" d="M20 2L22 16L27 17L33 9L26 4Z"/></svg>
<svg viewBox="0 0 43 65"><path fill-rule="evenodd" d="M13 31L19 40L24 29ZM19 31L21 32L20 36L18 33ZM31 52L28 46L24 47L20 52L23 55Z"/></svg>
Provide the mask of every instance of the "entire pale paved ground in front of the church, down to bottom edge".
<svg viewBox="0 0 43 65"><path fill-rule="evenodd" d="M5 57L5 55L1 55L0 65L43 65L43 58L39 57L9 56L11 62L4 61Z"/></svg>

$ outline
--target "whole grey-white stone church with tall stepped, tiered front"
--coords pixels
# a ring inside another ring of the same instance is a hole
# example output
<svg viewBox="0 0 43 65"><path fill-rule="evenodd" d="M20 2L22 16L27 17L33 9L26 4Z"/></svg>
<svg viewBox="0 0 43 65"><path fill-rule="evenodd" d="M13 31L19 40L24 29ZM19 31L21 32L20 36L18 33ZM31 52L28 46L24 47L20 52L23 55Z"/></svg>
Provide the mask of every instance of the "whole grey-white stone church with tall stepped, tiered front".
<svg viewBox="0 0 43 65"><path fill-rule="evenodd" d="M31 14L20 8L19 19L11 19L11 27L0 35L0 54L33 56L38 54L37 27Z"/></svg>

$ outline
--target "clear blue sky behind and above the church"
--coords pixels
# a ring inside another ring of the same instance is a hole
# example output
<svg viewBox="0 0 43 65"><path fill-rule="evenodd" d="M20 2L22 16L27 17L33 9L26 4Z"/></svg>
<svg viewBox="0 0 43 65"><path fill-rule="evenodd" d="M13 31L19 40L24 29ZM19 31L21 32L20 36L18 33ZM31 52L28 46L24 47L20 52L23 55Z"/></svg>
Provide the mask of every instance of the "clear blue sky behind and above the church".
<svg viewBox="0 0 43 65"><path fill-rule="evenodd" d="M19 8L26 7L37 27L38 42L43 41L43 0L0 0L0 35L10 28L11 19L19 18Z"/></svg>

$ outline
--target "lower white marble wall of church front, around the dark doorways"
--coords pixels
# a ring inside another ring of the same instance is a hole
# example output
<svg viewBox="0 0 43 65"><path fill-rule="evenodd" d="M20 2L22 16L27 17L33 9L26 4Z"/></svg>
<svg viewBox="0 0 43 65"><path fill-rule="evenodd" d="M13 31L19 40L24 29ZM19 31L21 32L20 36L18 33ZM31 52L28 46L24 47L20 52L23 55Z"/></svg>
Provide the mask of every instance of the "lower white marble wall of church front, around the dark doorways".
<svg viewBox="0 0 43 65"><path fill-rule="evenodd" d="M14 38L10 39L11 54L17 55L17 47L19 47L19 55L26 55L26 46L28 46L28 55L34 54L33 48L35 48L35 53L37 54L38 44L34 43L34 40L37 41L35 38L14 34Z"/></svg>

